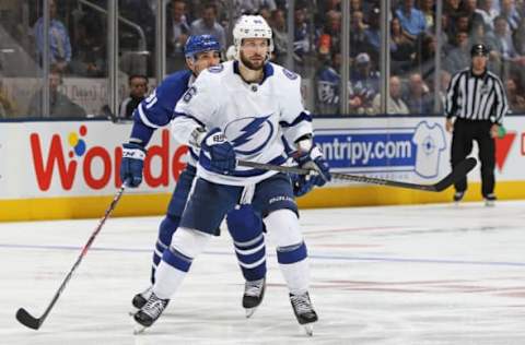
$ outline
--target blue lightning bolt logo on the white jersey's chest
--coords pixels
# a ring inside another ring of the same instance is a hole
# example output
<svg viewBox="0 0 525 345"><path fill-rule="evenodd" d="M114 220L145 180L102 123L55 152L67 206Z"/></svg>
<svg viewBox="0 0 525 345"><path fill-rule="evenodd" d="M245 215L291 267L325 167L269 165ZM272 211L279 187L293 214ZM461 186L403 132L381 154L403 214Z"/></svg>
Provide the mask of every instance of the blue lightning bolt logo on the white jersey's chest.
<svg viewBox="0 0 525 345"><path fill-rule="evenodd" d="M273 124L269 121L271 114L265 117L242 118L230 122L224 132L242 155L252 155L260 152L273 136Z"/></svg>

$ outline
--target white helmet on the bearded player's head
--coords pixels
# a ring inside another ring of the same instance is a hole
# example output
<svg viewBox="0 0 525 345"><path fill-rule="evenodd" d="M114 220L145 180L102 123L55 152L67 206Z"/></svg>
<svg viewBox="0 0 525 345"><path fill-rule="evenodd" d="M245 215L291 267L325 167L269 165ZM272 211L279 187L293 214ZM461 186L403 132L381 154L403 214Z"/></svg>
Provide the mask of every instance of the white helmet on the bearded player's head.
<svg viewBox="0 0 525 345"><path fill-rule="evenodd" d="M238 51L244 38L267 38L269 40L268 56L266 60L270 59L273 51L273 38L271 27L260 15L242 15L235 27L233 28L233 44L235 46L235 59L238 60Z"/></svg>

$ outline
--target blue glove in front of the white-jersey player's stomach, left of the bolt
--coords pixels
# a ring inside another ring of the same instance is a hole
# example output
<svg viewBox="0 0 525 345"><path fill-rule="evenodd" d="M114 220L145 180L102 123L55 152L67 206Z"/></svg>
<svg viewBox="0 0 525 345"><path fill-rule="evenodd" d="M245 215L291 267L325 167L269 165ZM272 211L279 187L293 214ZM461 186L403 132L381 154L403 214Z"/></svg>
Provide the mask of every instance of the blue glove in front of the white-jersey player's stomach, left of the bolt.
<svg viewBox="0 0 525 345"><path fill-rule="evenodd" d="M200 143L199 163L219 174L228 175L235 170L237 165L235 151L220 129L209 131Z"/></svg>

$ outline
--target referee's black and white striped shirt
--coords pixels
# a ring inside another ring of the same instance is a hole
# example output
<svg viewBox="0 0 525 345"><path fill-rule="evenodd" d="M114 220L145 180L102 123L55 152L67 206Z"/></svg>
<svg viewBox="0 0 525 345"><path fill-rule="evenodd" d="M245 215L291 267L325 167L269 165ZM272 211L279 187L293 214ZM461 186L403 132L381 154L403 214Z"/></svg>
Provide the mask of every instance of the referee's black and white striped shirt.
<svg viewBox="0 0 525 345"><path fill-rule="evenodd" d="M446 91L445 116L490 120L502 124L509 109L503 83L494 73L474 75L471 69L457 72Z"/></svg>

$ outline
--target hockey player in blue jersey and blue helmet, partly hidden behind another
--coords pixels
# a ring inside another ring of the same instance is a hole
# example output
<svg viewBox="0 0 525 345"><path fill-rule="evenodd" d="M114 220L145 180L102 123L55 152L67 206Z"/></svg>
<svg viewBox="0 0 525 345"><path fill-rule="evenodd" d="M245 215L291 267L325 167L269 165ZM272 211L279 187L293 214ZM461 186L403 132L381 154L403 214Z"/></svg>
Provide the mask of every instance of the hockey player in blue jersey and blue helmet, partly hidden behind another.
<svg viewBox="0 0 525 345"><path fill-rule="evenodd" d="M185 46L185 55L188 70L168 75L135 110L131 135L129 142L122 145L120 165L120 178L122 181L131 179L130 187L138 187L142 181L142 160L154 131L171 122L177 100L194 83L198 74L211 66L219 64L219 41L210 35L190 36ZM155 269L161 257L170 246L172 236L178 227L196 174L197 158L195 150L190 148L188 166L180 175L166 215L160 225L153 251L151 284L154 283ZM300 185L298 189L303 193L312 187L308 183ZM266 248L262 222L254 214L249 205L242 205L229 214L226 223L234 241L238 264L246 279L243 307L246 309L246 317L249 318L262 300L266 286ZM150 294L151 286L137 294L132 299L133 307L142 308Z"/></svg>

